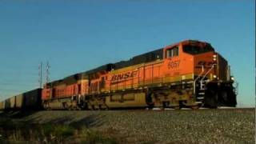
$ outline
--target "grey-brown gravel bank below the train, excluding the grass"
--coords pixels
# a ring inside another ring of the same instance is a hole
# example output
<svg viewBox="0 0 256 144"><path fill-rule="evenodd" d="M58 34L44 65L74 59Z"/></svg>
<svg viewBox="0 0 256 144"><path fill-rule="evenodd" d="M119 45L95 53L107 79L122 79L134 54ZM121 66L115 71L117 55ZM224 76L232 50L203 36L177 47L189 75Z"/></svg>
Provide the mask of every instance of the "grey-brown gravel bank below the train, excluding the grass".
<svg viewBox="0 0 256 144"><path fill-rule="evenodd" d="M254 143L254 109L0 112L30 123L86 126L120 143Z"/></svg>

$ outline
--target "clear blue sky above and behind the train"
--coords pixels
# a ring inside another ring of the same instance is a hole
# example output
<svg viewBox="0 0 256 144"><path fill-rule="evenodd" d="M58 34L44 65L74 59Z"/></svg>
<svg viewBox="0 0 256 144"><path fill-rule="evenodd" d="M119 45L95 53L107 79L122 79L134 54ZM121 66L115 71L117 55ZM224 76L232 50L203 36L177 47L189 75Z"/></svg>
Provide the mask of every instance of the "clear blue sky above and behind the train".
<svg viewBox="0 0 256 144"><path fill-rule="evenodd" d="M197 39L230 62L239 106L254 106L254 11L253 0L1 1L0 100L38 87L41 61L56 80Z"/></svg>

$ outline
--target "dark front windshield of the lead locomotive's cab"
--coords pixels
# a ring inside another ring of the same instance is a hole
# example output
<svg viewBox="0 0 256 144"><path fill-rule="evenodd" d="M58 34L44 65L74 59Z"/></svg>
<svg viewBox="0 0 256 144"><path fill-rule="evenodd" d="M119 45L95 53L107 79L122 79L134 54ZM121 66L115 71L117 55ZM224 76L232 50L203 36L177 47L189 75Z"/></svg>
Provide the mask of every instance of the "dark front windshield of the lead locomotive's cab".
<svg viewBox="0 0 256 144"><path fill-rule="evenodd" d="M193 45L185 45L183 46L183 51L188 54L202 54L209 51L214 51L214 48L207 44L204 47L201 46L193 46Z"/></svg>

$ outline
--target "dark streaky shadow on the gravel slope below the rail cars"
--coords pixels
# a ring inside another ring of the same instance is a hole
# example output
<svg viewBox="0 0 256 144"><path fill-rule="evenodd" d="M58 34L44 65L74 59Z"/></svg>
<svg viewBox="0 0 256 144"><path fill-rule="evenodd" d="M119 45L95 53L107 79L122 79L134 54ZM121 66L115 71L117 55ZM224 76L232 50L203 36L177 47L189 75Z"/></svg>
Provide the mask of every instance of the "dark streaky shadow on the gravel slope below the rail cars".
<svg viewBox="0 0 256 144"><path fill-rule="evenodd" d="M106 115L104 114L88 114L85 116L75 116L74 114L60 114L50 116L45 113L38 113L39 111L4 111L0 112L0 126L6 127L33 127L33 126L72 126L75 129L93 128L102 126L106 122ZM38 114L37 114L38 113Z"/></svg>

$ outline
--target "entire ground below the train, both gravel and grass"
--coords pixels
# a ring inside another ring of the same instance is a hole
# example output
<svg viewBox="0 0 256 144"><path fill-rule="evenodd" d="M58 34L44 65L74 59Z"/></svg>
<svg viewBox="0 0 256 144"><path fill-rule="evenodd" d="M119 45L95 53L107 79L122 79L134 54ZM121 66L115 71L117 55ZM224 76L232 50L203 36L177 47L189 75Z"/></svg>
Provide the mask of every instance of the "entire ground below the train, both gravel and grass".
<svg viewBox="0 0 256 144"><path fill-rule="evenodd" d="M254 118L254 109L12 112L0 114L0 141L255 143Z"/></svg>

